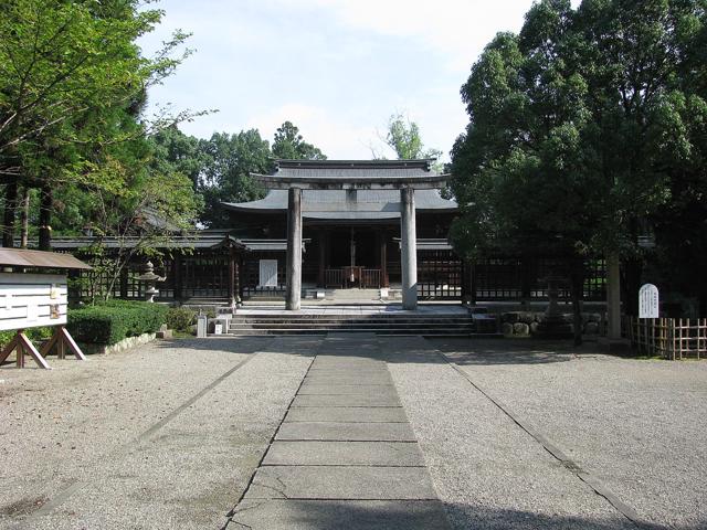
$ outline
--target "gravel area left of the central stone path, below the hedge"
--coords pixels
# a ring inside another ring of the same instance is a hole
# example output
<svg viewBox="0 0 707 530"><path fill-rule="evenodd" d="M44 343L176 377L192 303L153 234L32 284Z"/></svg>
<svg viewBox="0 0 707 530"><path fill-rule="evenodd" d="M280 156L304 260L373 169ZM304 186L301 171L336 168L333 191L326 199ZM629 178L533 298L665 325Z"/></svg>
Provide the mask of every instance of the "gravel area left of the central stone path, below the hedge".
<svg viewBox="0 0 707 530"><path fill-rule="evenodd" d="M0 528L221 528L312 361L293 353L313 348L179 340L3 368Z"/></svg>

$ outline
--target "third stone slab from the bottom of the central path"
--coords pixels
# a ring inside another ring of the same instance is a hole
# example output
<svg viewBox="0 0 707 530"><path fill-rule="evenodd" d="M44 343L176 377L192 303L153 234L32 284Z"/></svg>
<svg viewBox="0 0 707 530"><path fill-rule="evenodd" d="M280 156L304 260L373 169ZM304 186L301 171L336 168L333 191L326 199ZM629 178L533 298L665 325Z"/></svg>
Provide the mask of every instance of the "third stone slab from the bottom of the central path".
<svg viewBox="0 0 707 530"><path fill-rule="evenodd" d="M424 466L418 444L407 442L282 442L271 445L266 466Z"/></svg>

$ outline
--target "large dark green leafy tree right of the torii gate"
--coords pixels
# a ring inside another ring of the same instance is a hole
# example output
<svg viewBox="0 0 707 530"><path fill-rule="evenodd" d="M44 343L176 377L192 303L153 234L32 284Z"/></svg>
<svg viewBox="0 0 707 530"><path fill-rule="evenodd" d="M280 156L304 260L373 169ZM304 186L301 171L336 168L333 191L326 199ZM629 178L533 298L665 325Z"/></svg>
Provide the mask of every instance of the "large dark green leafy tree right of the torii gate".
<svg viewBox="0 0 707 530"><path fill-rule="evenodd" d="M576 264L640 255L676 150L687 156L676 80L693 46L682 28L704 19L700 4L544 0L519 35L486 47L462 88L471 119L453 150L460 250L526 242ZM581 269L571 271L577 293Z"/></svg>

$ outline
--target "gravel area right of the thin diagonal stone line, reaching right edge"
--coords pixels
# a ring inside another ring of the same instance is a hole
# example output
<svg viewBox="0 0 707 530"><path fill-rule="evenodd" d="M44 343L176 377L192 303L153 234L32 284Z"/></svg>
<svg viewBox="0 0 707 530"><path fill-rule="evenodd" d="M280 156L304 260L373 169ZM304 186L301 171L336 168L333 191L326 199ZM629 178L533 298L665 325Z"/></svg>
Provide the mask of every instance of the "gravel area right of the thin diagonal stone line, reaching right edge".
<svg viewBox="0 0 707 530"><path fill-rule="evenodd" d="M622 359L593 343L429 343L646 526L707 528L707 363Z"/></svg>

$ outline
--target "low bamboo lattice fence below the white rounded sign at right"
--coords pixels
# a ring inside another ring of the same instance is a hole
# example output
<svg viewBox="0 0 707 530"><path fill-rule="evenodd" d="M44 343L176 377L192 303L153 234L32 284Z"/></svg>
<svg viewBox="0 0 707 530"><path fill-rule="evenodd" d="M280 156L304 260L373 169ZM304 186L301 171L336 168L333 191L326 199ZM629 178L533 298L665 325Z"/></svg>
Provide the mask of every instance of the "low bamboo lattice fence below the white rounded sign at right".
<svg viewBox="0 0 707 530"><path fill-rule="evenodd" d="M642 353L672 360L707 357L707 318L630 317L625 331Z"/></svg>

